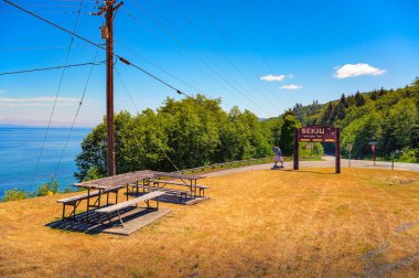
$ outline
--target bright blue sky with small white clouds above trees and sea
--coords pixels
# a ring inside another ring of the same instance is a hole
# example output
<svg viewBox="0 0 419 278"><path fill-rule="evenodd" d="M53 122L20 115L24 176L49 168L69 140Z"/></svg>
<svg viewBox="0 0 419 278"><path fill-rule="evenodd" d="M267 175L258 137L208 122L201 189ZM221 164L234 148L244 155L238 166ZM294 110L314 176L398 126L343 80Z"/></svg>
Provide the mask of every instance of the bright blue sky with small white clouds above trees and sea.
<svg viewBox="0 0 419 278"><path fill-rule="evenodd" d="M79 1L17 3L73 29ZM126 0L115 20L115 52L187 94L221 97L225 109L237 105L273 117L296 103L410 84L419 76L418 10L416 0ZM83 1L77 33L104 43L104 18L93 11L95 2ZM1 73L65 64L68 34L2 1L0 14ZM68 63L93 62L95 53L75 39ZM99 51L97 61L104 60ZM168 96L179 98L132 67L117 68L117 111L155 109ZM65 71L54 126L73 121L89 70ZM0 76L0 124L45 126L61 75L56 70ZM76 125L97 125L105 101L105 66L95 66Z"/></svg>

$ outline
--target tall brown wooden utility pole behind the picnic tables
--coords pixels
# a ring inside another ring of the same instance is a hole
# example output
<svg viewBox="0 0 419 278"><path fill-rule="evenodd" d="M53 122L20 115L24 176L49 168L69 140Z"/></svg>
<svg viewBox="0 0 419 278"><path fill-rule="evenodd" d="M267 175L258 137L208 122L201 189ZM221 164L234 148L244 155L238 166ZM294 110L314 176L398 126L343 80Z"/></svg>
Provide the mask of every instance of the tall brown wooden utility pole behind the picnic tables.
<svg viewBox="0 0 419 278"><path fill-rule="evenodd" d="M107 149L108 177L116 174L115 163L115 122L114 122L114 12L123 2L117 6L115 0L105 0L95 15L105 12L106 23L101 26L101 39L106 39L106 119L107 119Z"/></svg>

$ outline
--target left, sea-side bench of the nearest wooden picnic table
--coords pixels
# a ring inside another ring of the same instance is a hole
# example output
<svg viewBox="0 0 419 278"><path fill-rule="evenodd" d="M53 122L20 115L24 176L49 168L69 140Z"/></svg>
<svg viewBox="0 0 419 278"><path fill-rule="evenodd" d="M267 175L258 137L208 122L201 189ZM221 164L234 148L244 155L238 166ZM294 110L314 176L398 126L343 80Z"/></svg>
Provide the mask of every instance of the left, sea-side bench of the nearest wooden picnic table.
<svg viewBox="0 0 419 278"><path fill-rule="evenodd" d="M65 220L65 218L69 218L72 217L73 215L73 218L76 217L76 209L77 206L80 204L80 202L83 200L88 200L90 197L96 197L96 201L93 205L88 204L88 206L94 206L94 207L99 207L100 206L100 197L99 195L101 196L103 194L106 194L106 204L109 205L109 193L115 193L116 194L116 202L118 203L118 191L120 189L123 189L125 185L119 185L119 186L114 186L114 188L110 188L110 189L107 189L107 190L104 190L103 192L100 191L95 191L90 194L88 193L85 193L85 194L82 194L82 195L76 195L76 196L71 196L71 197L65 197L65 199L60 199L57 200L56 202L57 203L61 203L63 204L63 216L62 216L62 220ZM72 213L68 215L68 217L65 217L65 206L73 206L73 211Z"/></svg>

